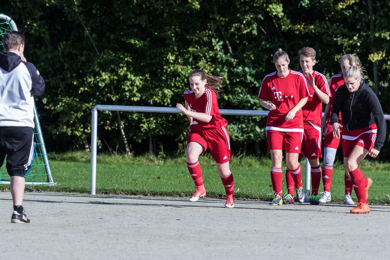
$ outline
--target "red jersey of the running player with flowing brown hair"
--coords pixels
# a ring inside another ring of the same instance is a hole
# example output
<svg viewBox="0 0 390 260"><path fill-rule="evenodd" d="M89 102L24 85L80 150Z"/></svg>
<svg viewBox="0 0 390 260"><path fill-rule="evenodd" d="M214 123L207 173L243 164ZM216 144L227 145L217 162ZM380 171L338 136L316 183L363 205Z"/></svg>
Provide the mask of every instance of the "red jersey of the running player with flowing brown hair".
<svg viewBox="0 0 390 260"><path fill-rule="evenodd" d="M206 129L216 129L222 126L227 126L226 119L221 117L217 96L215 95L214 90L211 88L205 87L204 93L199 98L195 97L195 93L193 90L187 89L184 91L184 100L190 106L191 111L206 113L207 115L211 115L210 122L203 122L201 120L192 120L192 124L190 126L190 131L201 131Z"/></svg>

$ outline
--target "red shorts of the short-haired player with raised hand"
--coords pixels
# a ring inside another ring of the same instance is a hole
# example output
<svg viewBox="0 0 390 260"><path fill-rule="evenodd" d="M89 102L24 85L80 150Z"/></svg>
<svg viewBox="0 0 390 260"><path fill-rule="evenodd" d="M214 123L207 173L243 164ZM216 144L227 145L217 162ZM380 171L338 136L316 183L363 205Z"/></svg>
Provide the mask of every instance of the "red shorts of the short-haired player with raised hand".
<svg viewBox="0 0 390 260"><path fill-rule="evenodd" d="M307 159L322 158L321 153L321 127L311 122L303 123L302 150Z"/></svg>

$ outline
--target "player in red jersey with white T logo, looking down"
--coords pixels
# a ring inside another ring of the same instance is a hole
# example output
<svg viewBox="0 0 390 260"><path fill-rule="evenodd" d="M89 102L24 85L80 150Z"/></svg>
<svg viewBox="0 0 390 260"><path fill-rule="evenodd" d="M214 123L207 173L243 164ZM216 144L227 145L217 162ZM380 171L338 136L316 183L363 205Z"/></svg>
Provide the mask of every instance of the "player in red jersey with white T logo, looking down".
<svg viewBox="0 0 390 260"><path fill-rule="evenodd" d="M303 119L301 108L306 104L309 91L301 73L288 68L290 59L282 49L273 56L277 71L268 74L261 83L260 104L269 110L266 136L271 152L271 182L275 196L270 205L282 201L282 147L286 164L293 175L298 203L305 200L298 155L301 152ZM271 100L271 103L268 103Z"/></svg>

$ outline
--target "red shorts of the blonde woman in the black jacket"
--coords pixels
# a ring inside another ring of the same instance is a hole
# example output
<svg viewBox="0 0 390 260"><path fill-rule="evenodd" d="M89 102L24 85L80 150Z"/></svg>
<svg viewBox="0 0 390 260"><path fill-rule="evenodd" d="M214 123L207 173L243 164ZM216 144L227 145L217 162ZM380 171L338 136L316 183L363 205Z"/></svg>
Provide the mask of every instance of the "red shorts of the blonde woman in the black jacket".
<svg viewBox="0 0 390 260"><path fill-rule="evenodd" d="M376 139L376 124L372 124L369 127L345 131L342 134L342 140L344 142L344 157L349 157L355 145L361 146L367 151L370 151L374 147Z"/></svg>

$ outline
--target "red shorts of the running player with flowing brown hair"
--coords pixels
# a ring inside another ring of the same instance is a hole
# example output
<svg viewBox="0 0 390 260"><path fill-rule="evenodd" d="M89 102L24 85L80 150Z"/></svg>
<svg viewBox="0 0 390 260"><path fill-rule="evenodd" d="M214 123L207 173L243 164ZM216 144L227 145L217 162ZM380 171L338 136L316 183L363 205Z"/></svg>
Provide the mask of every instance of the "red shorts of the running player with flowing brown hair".
<svg viewBox="0 0 390 260"><path fill-rule="evenodd" d="M211 156L216 163L226 163L230 160L232 150L230 150L230 137L226 127L222 126L217 129L207 129L200 132L189 132L187 144L197 142L204 147L209 147ZM200 156L202 156L200 154Z"/></svg>

